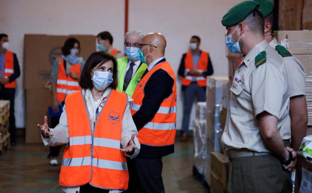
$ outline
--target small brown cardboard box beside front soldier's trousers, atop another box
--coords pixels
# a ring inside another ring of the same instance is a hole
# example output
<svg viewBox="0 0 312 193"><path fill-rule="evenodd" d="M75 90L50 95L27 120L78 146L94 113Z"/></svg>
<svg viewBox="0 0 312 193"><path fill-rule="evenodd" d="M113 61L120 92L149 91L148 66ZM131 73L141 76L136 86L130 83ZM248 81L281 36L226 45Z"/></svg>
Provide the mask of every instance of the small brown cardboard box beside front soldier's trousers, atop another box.
<svg viewBox="0 0 312 193"><path fill-rule="evenodd" d="M217 179L223 184L223 188L226 190L229 164L225 160L225 155L218 152L211 152L211 173L213 173Z"/></svg>

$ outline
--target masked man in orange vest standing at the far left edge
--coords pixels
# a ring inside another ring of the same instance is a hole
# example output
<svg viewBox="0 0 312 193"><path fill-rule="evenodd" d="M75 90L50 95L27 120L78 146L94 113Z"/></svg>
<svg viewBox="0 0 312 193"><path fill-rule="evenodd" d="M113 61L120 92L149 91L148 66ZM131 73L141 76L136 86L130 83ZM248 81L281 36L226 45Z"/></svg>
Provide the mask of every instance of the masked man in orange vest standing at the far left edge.
<svg viewBox="0 0 312 193"><path fill-rule="evenodd" d="M14 97L16 79L20 76L20 68L16 54L7 50L9 39L7 34L0 34L0 99L10 100L9 132L11 145L16 145Z"/></svg>

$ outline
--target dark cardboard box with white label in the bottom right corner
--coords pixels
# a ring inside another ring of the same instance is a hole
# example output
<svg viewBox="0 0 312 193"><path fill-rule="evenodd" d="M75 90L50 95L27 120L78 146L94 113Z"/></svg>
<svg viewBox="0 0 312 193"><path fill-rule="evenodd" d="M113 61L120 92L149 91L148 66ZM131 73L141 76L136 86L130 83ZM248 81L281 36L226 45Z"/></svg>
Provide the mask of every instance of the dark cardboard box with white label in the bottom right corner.
<svg viewBox="0 0 312 193"><path fill-rule="evenodd" d="M302 168L305 168L305 172L309 173L310 176L312 175L312 163L309 162L308 160L306 160L304 157L298 156L298 158L297 158L297 169L296 169L296 179L295 179L295 193L306 192L306 191L302 190L305 187L301 188L301 181L303 180L302 176L307 175L307 173L302 172ZM311 178L310 178L309 182L311 185L312 184ZM306 183L306 187L310 188L311 186L308 186L308 184Z"/></svg>

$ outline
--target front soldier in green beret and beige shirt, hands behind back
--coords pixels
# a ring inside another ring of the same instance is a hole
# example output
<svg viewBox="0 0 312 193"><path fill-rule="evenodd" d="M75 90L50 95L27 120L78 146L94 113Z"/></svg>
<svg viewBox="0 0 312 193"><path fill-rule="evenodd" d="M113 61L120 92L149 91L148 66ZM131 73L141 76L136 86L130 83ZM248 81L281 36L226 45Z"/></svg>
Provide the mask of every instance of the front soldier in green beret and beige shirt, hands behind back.
<svg viewBox="0 0 312 193"><path fill-rule="evenodd" d="M231 86L222 144L230 159L228 192L290 193L296 152L284 147L289 86L283 61L264 39L259 3L244 1L222 18L226 45L243 53Z"/></svg>

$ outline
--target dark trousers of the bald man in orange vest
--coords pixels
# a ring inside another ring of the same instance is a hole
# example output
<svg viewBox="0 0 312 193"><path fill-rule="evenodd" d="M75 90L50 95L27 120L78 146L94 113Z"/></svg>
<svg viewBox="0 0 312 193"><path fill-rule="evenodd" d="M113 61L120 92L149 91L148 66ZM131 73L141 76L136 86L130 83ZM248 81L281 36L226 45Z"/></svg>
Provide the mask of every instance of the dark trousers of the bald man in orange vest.
<svg viewBox="0 0 312 193"><path fill-rule="evenodd" d="M164 193L162 157L144 159L136 157L135 167L137 169L139 193Z"/></svg>

